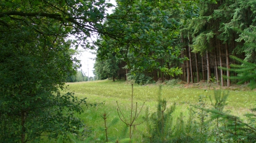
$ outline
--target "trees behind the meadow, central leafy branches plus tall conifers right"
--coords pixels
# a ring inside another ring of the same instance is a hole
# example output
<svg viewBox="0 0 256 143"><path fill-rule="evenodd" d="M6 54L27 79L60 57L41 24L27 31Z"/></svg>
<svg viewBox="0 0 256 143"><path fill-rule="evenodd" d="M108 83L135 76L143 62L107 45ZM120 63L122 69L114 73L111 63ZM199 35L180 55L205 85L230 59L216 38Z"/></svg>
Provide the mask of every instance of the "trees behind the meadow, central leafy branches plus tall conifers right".
<svg viewBox="0 0 256 143"><path fill-rule="evenodd" d="M106 24L113 31L130 36L122 41L118 35L115 40L101 37L97 60L108 62L109 57L113 57L108 54L115 55L126 63L121 68L135 75L135 79L143 75L154 81L217 80L222 86L230 86L229 77L237 73L222 70L236 64L230 55L255 63L255 47L252 46L255 38L245 34L255 33L256 3L253 0L117 1L117 4L110 16L118 20L111 19ZM123 11L128 5L130 10ZM125 15L122 18L128 21L123 23L117 15ZM121 23L119 27L117 23ZM101 74L98 69L101 68L96 64L96 73ZM112 74L117 75L117 72ZM237 83L237 80L232 82Z"/></svg>

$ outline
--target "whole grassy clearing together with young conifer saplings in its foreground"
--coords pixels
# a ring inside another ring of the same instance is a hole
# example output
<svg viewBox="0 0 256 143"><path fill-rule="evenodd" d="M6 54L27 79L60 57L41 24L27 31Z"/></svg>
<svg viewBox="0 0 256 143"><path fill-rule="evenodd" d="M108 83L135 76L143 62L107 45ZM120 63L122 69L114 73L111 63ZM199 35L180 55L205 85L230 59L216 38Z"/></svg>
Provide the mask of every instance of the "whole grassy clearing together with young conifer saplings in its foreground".
<svg viewBox="0 0 256 143"><path fill-rule="evenodd" d="M214 90L207 84L134 85L134 110L137 103L138 111L143 102L145 107L135 120L143 123L132 126L130 140L121 119L131 115L131 83L103 80L68 85L77 97L87 97L85 112L76 115L86 126L80 135L71 135L71 142L106 142L106 137L109 142L255 142L256 95L242 86Z"/></svg>

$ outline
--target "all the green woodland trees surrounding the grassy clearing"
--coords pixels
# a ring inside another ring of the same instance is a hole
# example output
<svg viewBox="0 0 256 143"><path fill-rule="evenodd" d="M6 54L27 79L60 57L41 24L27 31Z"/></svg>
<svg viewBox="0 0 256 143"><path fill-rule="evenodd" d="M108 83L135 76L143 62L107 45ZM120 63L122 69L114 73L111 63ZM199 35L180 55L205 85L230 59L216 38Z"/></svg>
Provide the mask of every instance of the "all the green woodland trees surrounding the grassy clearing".
<svg viewBox="0 0 256 143"><path fill-rule="evenodd" d="M79 46L97 50L97 79L214 80L255 88L256 1L116 3L0 2L0 142L79 134L84 123L76 114L84 111L86 97L65 84L86 80L77 72Z"/></svg>

